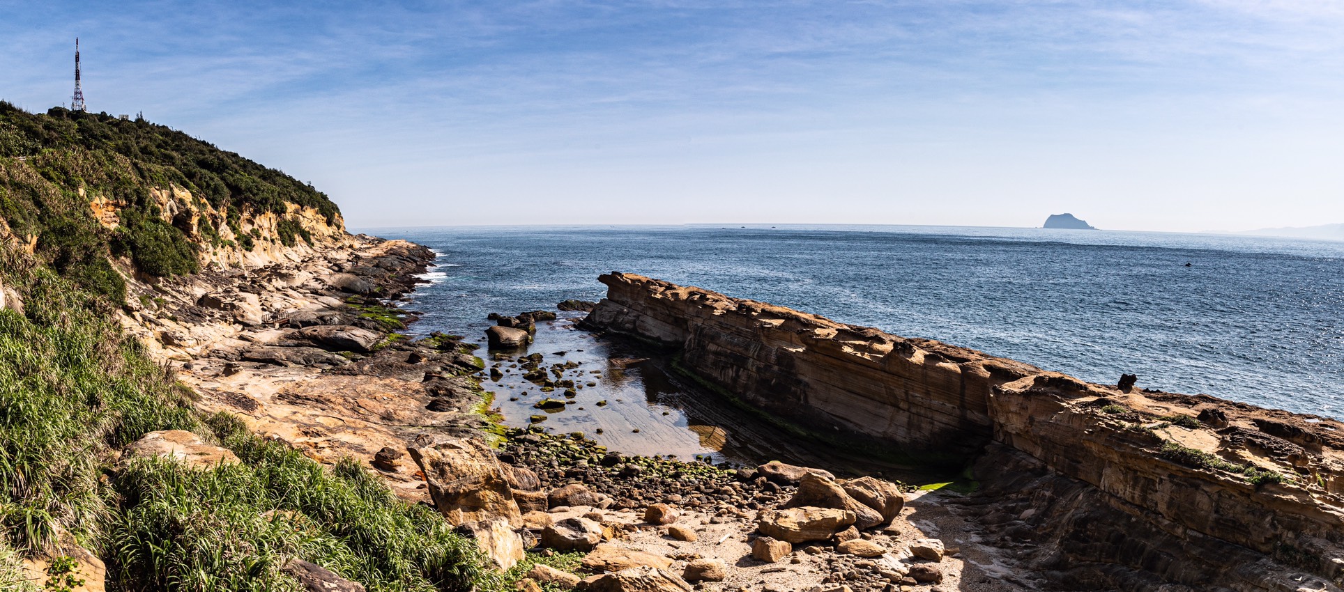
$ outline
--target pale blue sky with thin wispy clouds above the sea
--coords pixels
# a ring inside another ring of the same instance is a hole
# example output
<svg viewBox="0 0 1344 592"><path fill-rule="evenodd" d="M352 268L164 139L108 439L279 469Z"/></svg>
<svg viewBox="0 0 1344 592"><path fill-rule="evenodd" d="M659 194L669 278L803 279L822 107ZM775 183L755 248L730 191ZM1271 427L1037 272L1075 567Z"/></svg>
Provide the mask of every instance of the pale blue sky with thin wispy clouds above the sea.
<svg viewBox="0 0 1344 592"><path fill-rule="evenodd" d="M1344 221L1344 3L13 1L0 98L145 118L351 227Z"/></svg>

